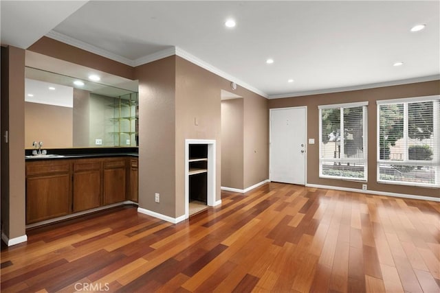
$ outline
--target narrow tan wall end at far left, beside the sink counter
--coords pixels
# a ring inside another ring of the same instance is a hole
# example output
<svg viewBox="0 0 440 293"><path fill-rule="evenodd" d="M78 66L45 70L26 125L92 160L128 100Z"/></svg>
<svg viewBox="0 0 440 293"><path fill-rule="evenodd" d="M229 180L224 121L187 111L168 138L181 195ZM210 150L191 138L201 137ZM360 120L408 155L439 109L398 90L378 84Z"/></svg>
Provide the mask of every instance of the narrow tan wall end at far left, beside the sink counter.
<svg viewBox="0 0 440 293"><path fill-rule="evenodd" d="M24 69L23 49L1 47L1 221L9 239L25 235Z"/></svg>

